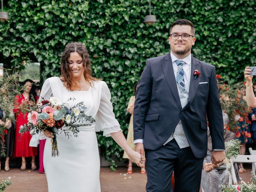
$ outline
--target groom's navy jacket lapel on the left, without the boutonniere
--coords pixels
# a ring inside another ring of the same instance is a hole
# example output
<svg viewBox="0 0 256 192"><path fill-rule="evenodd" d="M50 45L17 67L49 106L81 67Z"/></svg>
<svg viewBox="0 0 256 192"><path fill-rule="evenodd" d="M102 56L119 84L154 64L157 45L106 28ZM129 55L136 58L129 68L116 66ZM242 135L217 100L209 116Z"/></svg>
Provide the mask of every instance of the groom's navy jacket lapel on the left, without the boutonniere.
<svg viewBox="0 0 256 192"><path fill-rule="evenodd" d="M172 67L172 59L171 59L170 52L168 54L166 54L166 56L161 60L161 63L162 63L162 69L164 72L164 77L165 77L167 84L174 96L174 99L176 100L176 102L178 103L180 108L182 108L181 103L180 103L180 97L179 97L179 93L178 93L177 83L176 83L176 79L175 79L174 71L173 71L173 67Z"/></svg>

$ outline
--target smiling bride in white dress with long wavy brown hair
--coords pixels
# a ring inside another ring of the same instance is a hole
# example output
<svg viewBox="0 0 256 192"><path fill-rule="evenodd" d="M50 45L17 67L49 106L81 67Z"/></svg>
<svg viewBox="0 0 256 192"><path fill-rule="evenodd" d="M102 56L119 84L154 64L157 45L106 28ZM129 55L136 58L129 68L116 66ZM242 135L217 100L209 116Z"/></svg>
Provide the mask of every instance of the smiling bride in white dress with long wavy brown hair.
<svg viewBox="0 0 256 192"><path fill-rule="evenodd" d="M78 137L57 135L59 156L52 157L52 132L44 131L40 139L47 138L44 148L44 170L48 192L100 192L100 157L96 131L112 138L138 166L141 156L127 144L113 113L110 91L104 81L91 76L88 52L81 43L68 44L61 57L62 77L46 79L40 94L48 99L51 95L74 106L84 102L85 113L96 120L90 126L80 126ZM82 122L81 122L82 124Z"/></svg>

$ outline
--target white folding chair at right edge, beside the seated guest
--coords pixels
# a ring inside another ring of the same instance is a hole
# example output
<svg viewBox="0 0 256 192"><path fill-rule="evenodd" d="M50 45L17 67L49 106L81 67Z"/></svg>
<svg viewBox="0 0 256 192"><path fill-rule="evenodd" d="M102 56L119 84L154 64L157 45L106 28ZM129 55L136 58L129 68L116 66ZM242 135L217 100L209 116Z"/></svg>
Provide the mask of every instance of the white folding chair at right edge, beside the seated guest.
<svg viewBox="0 0 256 192"><path fill-rule="evenodd" d="M234 182L234 184L238 184L236 180L234 165L233 165L234 162L254 164L256 162L256 155L238 155L236 158L234 157L230 158L231 171L229 176L229 184L231 185L232 185L232 181Z"/></svg>

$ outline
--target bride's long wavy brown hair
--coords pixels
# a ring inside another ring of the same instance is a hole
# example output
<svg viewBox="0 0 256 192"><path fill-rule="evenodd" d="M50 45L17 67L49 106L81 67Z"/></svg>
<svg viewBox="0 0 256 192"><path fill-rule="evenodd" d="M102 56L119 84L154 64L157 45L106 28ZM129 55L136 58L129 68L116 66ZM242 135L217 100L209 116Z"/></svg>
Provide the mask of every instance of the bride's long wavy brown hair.
<svg viewBox="0 0 256 192"><path fill-rule="evenodd" d="M92 81L98 79L92 77L90 58L86 47L82 43L78 42L67 44L61 56L61 80L64 82L64 86L70 91L80 89L80 86L76 82L70 70L70 64L68 64L68 58L72 52L77 52L82 57L84 66L84 78L92 86Z"/></svg>

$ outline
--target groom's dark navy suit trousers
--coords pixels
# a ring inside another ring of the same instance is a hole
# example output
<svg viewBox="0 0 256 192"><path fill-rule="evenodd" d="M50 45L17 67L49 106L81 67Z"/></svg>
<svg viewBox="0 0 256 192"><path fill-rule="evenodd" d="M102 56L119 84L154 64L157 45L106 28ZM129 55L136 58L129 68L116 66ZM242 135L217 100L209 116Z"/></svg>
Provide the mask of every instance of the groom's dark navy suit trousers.
<svg viewBox="0 0 256 192"><path fill-rule="evenodd" d="M190 147L180 149L175 139L157 150L145 150L147 192L199 192L204 158L196 158Z"/></svg>

